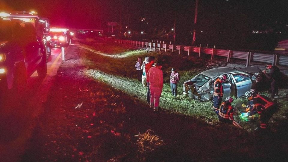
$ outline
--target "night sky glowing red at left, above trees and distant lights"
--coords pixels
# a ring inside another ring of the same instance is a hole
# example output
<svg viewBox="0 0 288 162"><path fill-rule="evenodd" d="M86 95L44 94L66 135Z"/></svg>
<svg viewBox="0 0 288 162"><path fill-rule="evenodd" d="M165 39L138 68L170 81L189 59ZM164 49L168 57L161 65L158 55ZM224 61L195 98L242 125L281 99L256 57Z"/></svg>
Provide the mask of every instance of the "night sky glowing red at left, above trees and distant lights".
<svg viewBox="0 0 288 162"><path fill-rule="evenodd" d="M171 29L176 12L176 31L193 28L207 33L260 30L271 24L288 24L287 0L199 0L197 26L193 25L195 0L0 0L1 10L36 10L51 26L78 29L106 28L107 21L139 28L146 17L150 28Z"/></svg>

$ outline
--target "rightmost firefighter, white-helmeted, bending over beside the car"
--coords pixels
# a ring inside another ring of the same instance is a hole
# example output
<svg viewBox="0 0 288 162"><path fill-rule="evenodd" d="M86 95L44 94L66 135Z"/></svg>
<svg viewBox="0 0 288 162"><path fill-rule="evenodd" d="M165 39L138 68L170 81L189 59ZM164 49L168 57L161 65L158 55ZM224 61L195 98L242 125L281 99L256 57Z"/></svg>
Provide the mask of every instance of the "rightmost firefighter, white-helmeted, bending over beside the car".
<svg viewBox="0 0 288 162"><path fill-rule="evenodd" d="M260 128L265 130L267 128L268 121L277 111L276 104L274 104L270 98L264 95L259 95L255 89L250 89L245 96L249 101L253 100L257 113L259 113Z"/></svg>

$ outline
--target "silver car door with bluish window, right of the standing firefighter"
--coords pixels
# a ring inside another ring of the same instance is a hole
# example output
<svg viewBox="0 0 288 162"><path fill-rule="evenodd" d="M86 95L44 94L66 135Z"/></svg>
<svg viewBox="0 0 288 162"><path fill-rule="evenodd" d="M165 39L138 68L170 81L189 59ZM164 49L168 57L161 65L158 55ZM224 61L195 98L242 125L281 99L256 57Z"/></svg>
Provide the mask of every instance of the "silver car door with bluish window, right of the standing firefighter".
<svg viewBox="0 0 288 162"><path fill-rule="evenodd" d="M233 81L236 85L237 97L241 97L249 91L252 86L250 76L244 73L233 73Z"/></svg>

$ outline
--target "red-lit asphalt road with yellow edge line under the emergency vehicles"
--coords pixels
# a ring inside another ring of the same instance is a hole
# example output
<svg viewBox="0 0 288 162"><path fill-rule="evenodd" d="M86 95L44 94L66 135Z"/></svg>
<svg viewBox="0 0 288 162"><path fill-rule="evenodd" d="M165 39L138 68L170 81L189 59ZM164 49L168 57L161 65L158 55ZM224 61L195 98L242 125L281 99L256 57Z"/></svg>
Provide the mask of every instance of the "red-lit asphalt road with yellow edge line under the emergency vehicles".
<svg viewBox="0 0 288 162"><path fill-rule="evenodd" d="M28 79L28 91L21 106L13 106L13 99L1 108L0 114L0 161L19 161L25 150L39 115L44 111L47 91L54 84L55 74L61 64L61 49L52 49L47 62L47 75L38 77L37 72Z"/></svg>

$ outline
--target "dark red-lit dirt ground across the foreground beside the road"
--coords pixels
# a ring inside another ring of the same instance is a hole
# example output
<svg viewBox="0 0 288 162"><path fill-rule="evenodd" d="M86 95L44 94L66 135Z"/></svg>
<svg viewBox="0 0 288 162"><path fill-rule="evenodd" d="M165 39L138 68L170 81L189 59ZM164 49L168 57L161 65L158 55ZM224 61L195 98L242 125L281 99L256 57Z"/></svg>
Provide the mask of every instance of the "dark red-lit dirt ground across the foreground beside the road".
<svg viewBox="0 0 288 162"><path fill-rule="evenodd" d="M154 113L136 97L88 77L81 61L83 52L77 44L66 52L22 161L288 159L286 130L254 135L230 125L209 125L165 111ZM141 153L134 135L149 129L164 145Z"/></svg>

